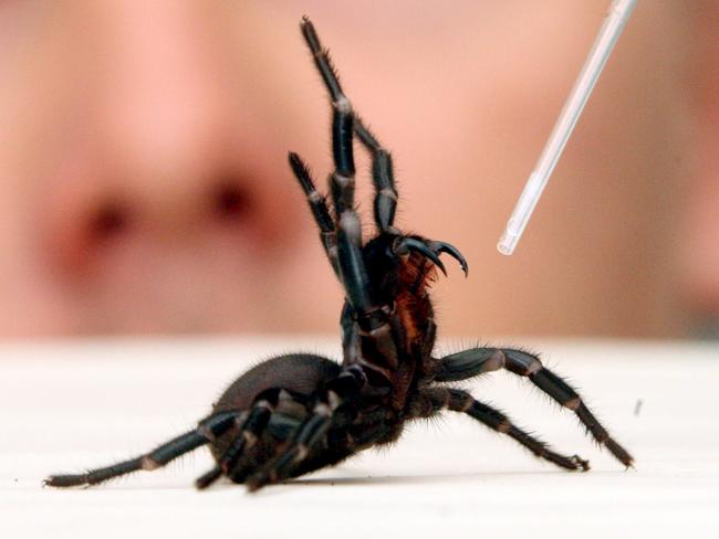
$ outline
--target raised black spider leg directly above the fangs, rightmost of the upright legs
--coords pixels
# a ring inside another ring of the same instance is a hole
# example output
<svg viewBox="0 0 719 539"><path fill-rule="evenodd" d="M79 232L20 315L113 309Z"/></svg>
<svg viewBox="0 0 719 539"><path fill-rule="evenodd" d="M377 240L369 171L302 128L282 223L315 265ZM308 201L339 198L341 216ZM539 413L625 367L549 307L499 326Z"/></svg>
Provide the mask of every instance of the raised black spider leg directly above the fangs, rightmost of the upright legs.
<svg viewBox="0 0 719 539"><path fill-rule="evenodd" d="M381 232L396 233L394 229L397 210L397 188L392 167L392 155L355 116L354 130L372 154L372 181L375 186L375 223Z"/></svg>

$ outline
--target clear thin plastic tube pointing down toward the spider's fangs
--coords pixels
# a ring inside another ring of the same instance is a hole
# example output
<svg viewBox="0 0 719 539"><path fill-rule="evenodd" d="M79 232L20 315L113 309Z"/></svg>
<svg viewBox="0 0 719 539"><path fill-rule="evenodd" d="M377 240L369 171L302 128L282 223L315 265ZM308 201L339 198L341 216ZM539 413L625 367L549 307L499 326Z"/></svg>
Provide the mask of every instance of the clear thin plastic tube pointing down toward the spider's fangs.
<svg viewBox="0 0 719 539"><path fill-rule="evenodd" d="M609 12L594 41L590 55L584 62L584 66L554 124L544 150L524 186L524 190L514 207L514 211L507 222L507 229L504 229L504 233L497 244L497 250L500 253L510 255L514 252L514 247L517 247L517 243L522 236L522 232L524 232L529 218L532 215L534 207L536 207L536 202L550 179L550 175L554 170L554 166L562 155L562 150L576 125L576 120L580 118L582 109L594 88L594 84L600 77L600 73L602 73L602 68L609 57L612 49L614 49L614 44L618 40L622 30L624 30L624 25L629 19L635 6L636 0L614 0L612 2Z"/></svg>

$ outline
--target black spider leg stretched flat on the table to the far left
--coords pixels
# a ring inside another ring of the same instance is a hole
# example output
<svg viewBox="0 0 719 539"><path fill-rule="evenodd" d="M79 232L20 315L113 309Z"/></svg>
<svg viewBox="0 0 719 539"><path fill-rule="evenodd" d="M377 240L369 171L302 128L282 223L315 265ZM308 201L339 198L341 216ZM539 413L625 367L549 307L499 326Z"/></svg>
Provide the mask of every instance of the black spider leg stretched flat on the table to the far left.
<svg viewBox="0 0 719 539"><path fill-rule="evenodd" d="M45 479L44 484L51 487L88 486L139 469L157 469L227 432L232 426L235 416L235 412L222 412L210 415L206 420L202 420L196 430L181 434L145 455L103 468L91 469L84 474L53 475Z"/></svg>

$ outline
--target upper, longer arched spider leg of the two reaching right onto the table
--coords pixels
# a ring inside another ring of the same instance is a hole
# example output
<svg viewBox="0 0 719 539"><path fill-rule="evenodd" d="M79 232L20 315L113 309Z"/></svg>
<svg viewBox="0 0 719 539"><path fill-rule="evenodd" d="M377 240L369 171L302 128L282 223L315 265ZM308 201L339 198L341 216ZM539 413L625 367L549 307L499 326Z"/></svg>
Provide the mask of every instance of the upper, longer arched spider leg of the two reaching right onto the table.
<svg viewBox="0 0 719 539"><path fill-rule="evenodd" d="M511 348L472 348L441 358L438 382L466 380L483 372L507 369L520 377L529 378L534 385L562 406L573 411L600 445L625 466L632 466L634 458L622 447L600 423L580 394L564 380L546 369L540 359L529 352Z"/></svg>

